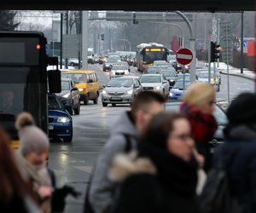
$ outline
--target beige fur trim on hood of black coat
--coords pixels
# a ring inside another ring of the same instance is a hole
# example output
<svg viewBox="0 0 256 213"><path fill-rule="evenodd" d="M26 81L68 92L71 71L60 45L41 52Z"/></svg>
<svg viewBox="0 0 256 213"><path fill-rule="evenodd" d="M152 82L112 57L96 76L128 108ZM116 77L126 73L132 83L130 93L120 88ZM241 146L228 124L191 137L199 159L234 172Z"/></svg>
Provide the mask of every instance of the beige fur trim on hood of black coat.
<svg viewBox="0 0 256 213"><path fill-rule="evenodd" d="M108 177L121 182L127 176L139 173L156 174L156 168L149 158L138 158L136 152L117 154L112 161Z"/></svg>

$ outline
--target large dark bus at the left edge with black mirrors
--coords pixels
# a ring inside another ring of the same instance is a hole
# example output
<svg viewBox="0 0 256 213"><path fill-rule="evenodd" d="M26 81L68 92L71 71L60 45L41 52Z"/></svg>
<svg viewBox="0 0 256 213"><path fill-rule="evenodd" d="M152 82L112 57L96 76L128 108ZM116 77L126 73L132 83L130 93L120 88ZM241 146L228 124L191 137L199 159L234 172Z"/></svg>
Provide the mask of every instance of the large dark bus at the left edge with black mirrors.
<svg viewBox="0 0 256 213"><path fill-rule="evenodd" d="M47 93L61 92L61 72L47 66L58 64L46 55L41 32L0 32L0 124L20 146L15 118L30 112L36 124L48 133Z"/></svg>

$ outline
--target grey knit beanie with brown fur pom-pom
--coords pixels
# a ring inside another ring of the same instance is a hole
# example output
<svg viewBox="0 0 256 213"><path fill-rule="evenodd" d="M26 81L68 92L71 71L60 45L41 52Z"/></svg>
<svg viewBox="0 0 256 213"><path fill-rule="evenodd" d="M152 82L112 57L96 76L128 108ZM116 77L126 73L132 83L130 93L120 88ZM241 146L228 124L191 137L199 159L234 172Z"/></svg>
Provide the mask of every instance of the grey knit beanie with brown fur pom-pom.
<svg viewBox="0 0 256 213"><path fill-rule="evenodd" d="M21 112L16 119L15 127L19 131L20 153L23 156L33 152L45 152L49 149L47 135L34 124L30 113Z"/></svg>

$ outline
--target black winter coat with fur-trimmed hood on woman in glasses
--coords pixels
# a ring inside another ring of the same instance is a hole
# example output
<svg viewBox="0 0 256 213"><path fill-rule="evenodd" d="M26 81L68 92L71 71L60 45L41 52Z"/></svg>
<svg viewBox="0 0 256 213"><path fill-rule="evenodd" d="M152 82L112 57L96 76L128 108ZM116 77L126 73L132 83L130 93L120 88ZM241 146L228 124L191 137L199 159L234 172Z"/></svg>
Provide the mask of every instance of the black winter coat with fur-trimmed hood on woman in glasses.
<svg viewBox="0 0 256 213"><path fill-rule="evenodd" d="M199 213L194 160L155 147L150 155L116 156L110 178L119 181L111 213Z"/></svg>

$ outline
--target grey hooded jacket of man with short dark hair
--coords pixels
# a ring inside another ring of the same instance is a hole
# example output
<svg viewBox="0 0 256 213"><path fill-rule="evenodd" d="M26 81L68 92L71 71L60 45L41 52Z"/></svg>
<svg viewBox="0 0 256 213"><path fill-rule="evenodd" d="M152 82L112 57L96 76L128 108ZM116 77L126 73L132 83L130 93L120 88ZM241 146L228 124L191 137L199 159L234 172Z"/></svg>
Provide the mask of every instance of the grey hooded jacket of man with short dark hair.
<svg viewBox="0 0 256 213"><path fill-rule="evenodd" d="M97 160L96 170L90 185L90 204L96 213L106 212L113 200L116 184L108 179L108 170L113 156L125 150L125 136L129 135L132 148L137 147L137 130L129 112L124 112L110 134Z"/></svg>

